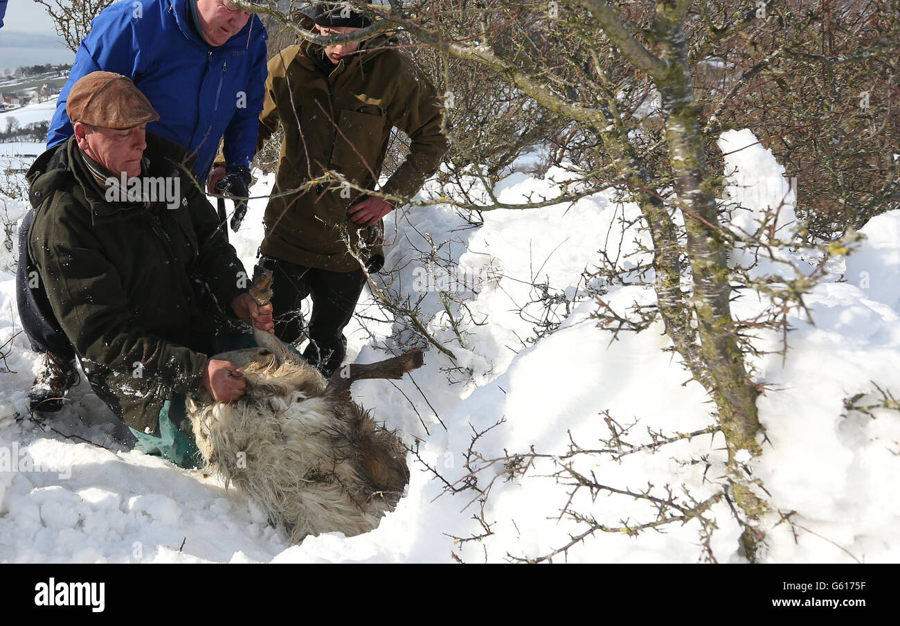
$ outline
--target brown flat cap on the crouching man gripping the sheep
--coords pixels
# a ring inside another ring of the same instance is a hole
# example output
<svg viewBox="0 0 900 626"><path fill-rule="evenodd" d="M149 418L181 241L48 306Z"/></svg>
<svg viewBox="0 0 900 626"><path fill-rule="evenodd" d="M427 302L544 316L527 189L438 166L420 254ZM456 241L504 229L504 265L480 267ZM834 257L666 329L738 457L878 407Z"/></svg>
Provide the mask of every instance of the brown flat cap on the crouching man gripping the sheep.
<svg viewBox="0 0 900 626"><path fill-rule="evenodd" d="M159 119L130 78L114 72L91 72L79 78L68 92L66 113L72 122L120 131Z"/></svg>

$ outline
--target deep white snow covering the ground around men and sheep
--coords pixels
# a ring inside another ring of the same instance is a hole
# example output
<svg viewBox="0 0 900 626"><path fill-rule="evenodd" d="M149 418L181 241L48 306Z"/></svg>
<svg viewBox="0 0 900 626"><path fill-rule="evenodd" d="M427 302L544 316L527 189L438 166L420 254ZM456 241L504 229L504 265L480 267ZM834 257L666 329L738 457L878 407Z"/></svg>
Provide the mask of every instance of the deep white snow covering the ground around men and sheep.
<svg viewBox="0 0 900 626"><path fill-rule="evenodd" d="M746 135L730 139L742 147L750 142ZM761 147L737 152L729 163L742 170L734 175L735 189L765 176L765 193L785 195L783 170ZM515 174L495 191L507 202L528 193L550 195L559 193L554 179L565 177L560 169L544 179ZM271 175L262 177L253 193L266 195L273 183ZM0 209L4 204L12 222L27 209L0 198ZM244 228L232 235L247 268L262 236L265 204L251 201ZM429 249L429 239L436 245L453 239L449 253L465 276L481 281L477 295L467 293L471 317L457 338L439 314L437 293L416 294L426 296L422 310L434 315L429 331L454 351L455 363L431 348L426 366L410 377L354 387L357 401L417 449L408 458L408 493L375 531L349 539L329 533L298 546L288 545L244 495L200 471L122 449L110 435L111 415L84 382L73 390L71 404L43 425L28 419L37 357L19 333L13 233L10 245L0 248L0 268L7 268L0 274L0 344L9 342L0 361L0 561L477 562L537 558L562 548L587 529L560 513L569 499L560 482L573 475L554 477L560 468L554 459L535 458L525 476L508 480L506 468L527 465L520 455L532 449L563 455L571 441L599 447L599 439L610 437L608 421L624 427L636 422L627 437L638 444L650 440L648 429L674 435L713 422L706 393L685 383L687 373L666 350L671 341L661 323L612 340L591 317L598 304L584 297L582 271L598 265L599 249L618 257L621 267L634 267L645 254L640 246L650 245L646 232L621 227L636 211L609 195L594 195L572 206L483 213L484 223L475 228L446 205L411 208L397 217L399 234L387 249L387 266L402 268L394 288L420 289L421 266L406 261L418 255L416 249ZM750 213L735 223L752 225ZM389 233L394 219L388 219ZM787 358L771 354L755 363L758 379L768 385L758 406L769 443L752 461L776 510L762 523L768 562L900 559L900 414L859 413L844 404L878 387L897 390L900 212L875 218L864 232L869 240L846 268L837 267L806 296L815 325L793 318ZM527 304L535 282L564 295L572 310L553 333L529 341L535 324L519 311L526 306L527 313L537 313L535 304ZM652 304L653 292L612 286L604 301L623 312L635 303ZM749 317L759 306L744 296L735 311ZM358 311L373 310L367 295ZM355 320L347 329L348 357L383 358L379 347L391 344L395 325L366 322L364 329L362 323ZM760 341L764 348L778 345L774 336ZM617 462L581 455L570 467L619 490L640 492L651 484L651 493L662 495L669 485L679 503L703 501L722 482L723 449L721 435L703 435ZM4 451L12 458L5 466ZM448 488L473 479L481 492ZM610 527L656 519L647 501L608 492L595 499L587 489L568 509ZM556 560L694 562L711 553L719 561L742 561L737 548L743 529L727 502L711 504L706 515L715 522L706 534L696 522L637 536L599 531Z"/></svg>

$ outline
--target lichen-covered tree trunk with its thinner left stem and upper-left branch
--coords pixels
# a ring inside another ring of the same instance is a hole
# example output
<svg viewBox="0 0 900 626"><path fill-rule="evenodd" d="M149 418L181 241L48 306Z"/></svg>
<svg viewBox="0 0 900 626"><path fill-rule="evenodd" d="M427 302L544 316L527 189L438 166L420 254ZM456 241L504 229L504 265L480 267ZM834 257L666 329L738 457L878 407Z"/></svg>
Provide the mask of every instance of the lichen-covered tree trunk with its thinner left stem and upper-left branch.
<svg viewBox="0 0 900 626"><path fill-rule="evenodd" d="M728 268L729 241L718 222L716 177L707 168L701 111L693 93L684 30L692 0L660 0L654 5L651 40L655 54L631 36L616 12L604 0L581 0L590 9L610 41L637 68L643 69L662 96L665 139L671 160L678 204L684 216L694 293L686 307L680 290L681 271L677 233L658 202L639 202L650 225L658 274L656 292L666 332L694 377L713 397L718 421L725 433L734 501L745 515L741 538L746 557L755 560L762 539L756 522L766 504L752 489L752 481L738 462L739 450L761 453L757 435L758 390L743 362L734 320ZM640 168L635 168L639 171ZM674 256L673 256L674 254ZM696 318L697 329L689 325Z"/></svg>

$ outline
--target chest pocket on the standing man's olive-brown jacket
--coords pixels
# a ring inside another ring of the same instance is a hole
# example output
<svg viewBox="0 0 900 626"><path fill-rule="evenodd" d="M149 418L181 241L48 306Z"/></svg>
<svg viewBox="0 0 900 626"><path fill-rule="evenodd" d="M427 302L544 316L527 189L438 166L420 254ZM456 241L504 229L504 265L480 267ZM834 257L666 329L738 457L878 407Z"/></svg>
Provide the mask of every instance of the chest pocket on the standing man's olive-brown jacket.
<svg viewBox="0 0 900 626"><path fill-rule="evenodd" d="M352 109L340 112L335 148L331 153L331 164L347 178L358 183L378 175L376 165L382 151L384 115L360 113Z"/></svg>

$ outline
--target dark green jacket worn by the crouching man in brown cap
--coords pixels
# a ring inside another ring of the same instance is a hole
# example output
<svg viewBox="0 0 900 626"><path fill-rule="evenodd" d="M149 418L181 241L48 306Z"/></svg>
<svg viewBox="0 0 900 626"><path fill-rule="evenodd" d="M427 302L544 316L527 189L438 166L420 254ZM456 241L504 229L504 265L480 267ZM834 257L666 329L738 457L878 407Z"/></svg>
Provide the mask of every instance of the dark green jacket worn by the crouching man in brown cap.
<svg viewBox="0 0 900 626"><path fill-rule="evenodd" d="M94 392L131 428L154 431L166 399L199 389L208 357L188 346L217 330L247 275L178 167L185 151L148 132L144 157L174 202L107 201L75 138L41 155L27 175L29 254Z"/></svg>

